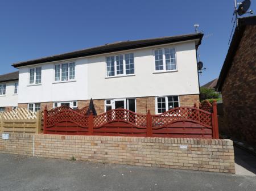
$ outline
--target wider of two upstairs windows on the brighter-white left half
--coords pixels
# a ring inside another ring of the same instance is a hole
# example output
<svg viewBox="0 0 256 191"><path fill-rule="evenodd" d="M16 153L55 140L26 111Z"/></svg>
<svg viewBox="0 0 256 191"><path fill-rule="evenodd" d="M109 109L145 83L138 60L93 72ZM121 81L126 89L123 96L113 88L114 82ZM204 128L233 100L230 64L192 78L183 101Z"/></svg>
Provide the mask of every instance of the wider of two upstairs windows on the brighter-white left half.
<svg viewBox="0 0 256 191"><path fill-rule="evenodd" d="M55 82L64 82L75 79L75 62L55 65Z"/></svg>

